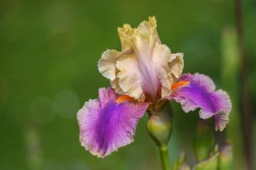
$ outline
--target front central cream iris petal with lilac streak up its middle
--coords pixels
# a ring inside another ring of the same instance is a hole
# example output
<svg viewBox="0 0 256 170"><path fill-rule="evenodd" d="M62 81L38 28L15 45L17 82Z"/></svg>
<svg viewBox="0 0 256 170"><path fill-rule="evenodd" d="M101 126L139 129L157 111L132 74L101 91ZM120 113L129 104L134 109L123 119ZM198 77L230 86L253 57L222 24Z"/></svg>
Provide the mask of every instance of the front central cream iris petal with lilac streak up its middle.
<svg viewBox="0 0 256 170"><path fill-rule="evenodd" d="M131 38L133 55L122 55L117 60L119 86L125 94L144 101L149 96L156 103L159 97L171 94L171 51L159 45L152 34L140 34Z"/></svg>

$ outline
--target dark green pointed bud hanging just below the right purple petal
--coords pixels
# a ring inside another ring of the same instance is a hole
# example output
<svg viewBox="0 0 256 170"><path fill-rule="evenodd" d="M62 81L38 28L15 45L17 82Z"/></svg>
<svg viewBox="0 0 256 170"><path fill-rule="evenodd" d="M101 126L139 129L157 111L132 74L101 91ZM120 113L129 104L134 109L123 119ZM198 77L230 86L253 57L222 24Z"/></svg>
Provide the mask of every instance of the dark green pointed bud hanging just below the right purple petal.
<svg viewBox="0 0 256 170"><path fill-rule="evenodd" d="M210 152L213 150L214 137L213 131L206 120L199 119L196 126L196 132L193 137L193 149L196 154L197 161L209 157Z"/></svg>

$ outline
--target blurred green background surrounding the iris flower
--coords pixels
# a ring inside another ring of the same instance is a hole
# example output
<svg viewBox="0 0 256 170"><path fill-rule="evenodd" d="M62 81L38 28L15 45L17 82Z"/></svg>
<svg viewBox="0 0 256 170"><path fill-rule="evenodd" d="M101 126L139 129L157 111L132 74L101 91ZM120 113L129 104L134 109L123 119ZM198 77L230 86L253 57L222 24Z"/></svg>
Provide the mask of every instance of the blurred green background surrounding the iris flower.
<svg viewBox="0 0 256 170"><path fill-rule="evenodd" d="M242 1L252 103L256 101L256 2ZM80 146L76 113L100 87L102 52L120 50L117 27L137 27L156 16L161 41L183 52L185 72L210 76L233 101L230 123L217 139L233 141L234 169L245 169L235 12L230 0L0 1L0 169L159 169L159 153L146 131L146 114L134 142L99 159ZM171 164L183 146L194 164L192 137L198 110L171 102ZM256 106L253 106L254 110ZM255 122L255 115L254 120ZM252 143L256 142L253 127ZM256 149L251 147L252 160ZM253 162L253 164L255 164ZM254 165L256 168L256 166Z"/></svg>

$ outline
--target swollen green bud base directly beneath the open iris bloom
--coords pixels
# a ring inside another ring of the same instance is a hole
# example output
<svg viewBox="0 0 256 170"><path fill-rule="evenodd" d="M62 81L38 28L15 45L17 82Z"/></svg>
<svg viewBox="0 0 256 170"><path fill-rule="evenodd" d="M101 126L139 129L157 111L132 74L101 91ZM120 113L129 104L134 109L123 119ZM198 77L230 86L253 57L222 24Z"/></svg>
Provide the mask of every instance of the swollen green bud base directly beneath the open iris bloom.
<svg viewBox="0 0 256 170"><path fill-rule="evenodd" d="M166 101L161 108L156 111L148 111L149 120L147 130L149 135L159 147L167 146L172 130L172 110L169 101Z"/></svg>

